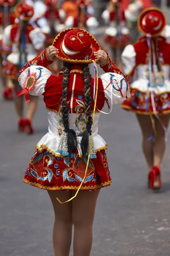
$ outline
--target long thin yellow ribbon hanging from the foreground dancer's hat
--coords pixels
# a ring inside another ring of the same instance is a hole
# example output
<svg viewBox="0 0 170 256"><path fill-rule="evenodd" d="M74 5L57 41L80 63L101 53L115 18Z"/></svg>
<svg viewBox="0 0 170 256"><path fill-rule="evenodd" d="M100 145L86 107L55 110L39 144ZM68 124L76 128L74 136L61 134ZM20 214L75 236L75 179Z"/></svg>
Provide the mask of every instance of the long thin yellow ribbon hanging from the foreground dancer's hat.
<svg viewBox="0 0 170 256"><path fill-rule="evenodd" d="M97 67L96 67L96 70L97 70ZM95 95L94 111L93 111L93 125L94 125L94 116L95 116L95 110L96 110L97 93L98 93L98 70L97 70L97 74L96 74L96 95ZM61 202L61 201L59 200L59 198L57 198L57 201L59 201L60 204L67 203L67 202L73 200L73 199L77 196L77 194L78 194L78 192L79 192L79 190L80 190L80 188L81 188L81 186L82 186L82 183L83 183L84 180L85 180L86 174L87 174L88 164L89 164L90 155L91 155L92 143L93 143L93 134L92 134L92 140L91 140L90 149L89 149L89 153L88 153L88 161L87 161L87 166L86 166L86 169L85 169L85 176L84 176L84 178L82 179L82 182L81 182L79 188L77 189L76 194L75 194L72 198L70 198L68 201L65 201L65 202Z"/></svg>

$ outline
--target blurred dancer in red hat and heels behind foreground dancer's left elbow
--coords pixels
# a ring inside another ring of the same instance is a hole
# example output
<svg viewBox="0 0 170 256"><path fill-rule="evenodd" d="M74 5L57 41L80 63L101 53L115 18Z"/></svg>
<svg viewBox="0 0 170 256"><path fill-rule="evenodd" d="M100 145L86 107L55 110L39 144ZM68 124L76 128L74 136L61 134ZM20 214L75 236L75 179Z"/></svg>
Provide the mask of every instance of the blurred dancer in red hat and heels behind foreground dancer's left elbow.
<svg viewBox="0 0 170 256"><path fill-rule="evenodd" d="M12 47L12 52L8 55L7 63L3 67L3 73L12 80L15 91L17 91L19 89L18 72L26 61L37 55L38 50L44 45L45 35L42 34L39 28L34 29L28 23L34 15L32 6L21 2L15 6L14 12L19 22L7 26L3 34L3 45ZM23 96L15 97L14 105L18 116L19 131L34 132L31 121L37 109L37 103L38 98L31 96L26 118L23 119Z"/></svg>

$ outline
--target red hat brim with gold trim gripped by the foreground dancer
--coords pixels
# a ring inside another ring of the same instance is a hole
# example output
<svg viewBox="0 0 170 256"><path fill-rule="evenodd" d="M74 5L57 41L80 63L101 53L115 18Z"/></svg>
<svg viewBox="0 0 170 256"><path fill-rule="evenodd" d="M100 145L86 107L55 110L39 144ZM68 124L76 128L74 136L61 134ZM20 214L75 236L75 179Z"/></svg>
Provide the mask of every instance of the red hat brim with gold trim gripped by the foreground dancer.
<svg viewBox="0 0 170 256"><path fill-rule="evenodd" d="M96 41L96 39L94 38L93 35L91 35L89 32L83 30L83 29L79 29L79 30L82 30L83 32L85 32L90 38L91 38L91 44L92 44L92 50L93 50L93 53L90 57L90 59L88 60L82 60L82 59L71 59L71 58L68 58L66 55L63 54L62 52L62 49L61 49L61 46L62 46L62 41L64 39L64 36L65 34L70 31L70 30L74 30L74 29L77 29L77 28L70 28L70 29L65 29L63 31L61 31L57 36L56 38L54 39L53 41L53 46L56 47L59 51L58 54L56 54L56 57L59 58L60 60L62 61L66 61L66 62L73 62L73 63L79 63L79 64L85 64L85 63L92 63L93 61L99 61L99 58L96 58L94 56L94 52L97 52L98 50L100 50L100 46L99 46L99 43Z"/></svg>

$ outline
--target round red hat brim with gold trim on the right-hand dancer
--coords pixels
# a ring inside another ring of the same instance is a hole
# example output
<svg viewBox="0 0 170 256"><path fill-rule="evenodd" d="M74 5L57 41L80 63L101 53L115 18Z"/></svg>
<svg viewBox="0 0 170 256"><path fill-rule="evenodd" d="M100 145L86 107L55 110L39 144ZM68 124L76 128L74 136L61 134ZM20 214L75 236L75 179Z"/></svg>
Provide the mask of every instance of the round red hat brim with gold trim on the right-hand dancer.
<svg viewBox="0 0 170 256"><path fill-rule="evenodd" d="M143 20L144 16L147 14L147 12L150 12L150 11L157 11L157 12L159 12L162 15L162 21L163 22L162 22L161 29L159 30L159 32L156 32L155 34L151 34L150 35L151 37L156 37L156 36L160 35L160 33L164 29L164 27L166 25L166 22L167 22L166 16L164 15L164 12L161 11L161 9L159 9L157 7L150 7L150 8L144 9L140 13L139 18L138 18L138 28L142 32L142 34L144 34L144 35L148 34L148 32L146 32L146 31L144 31L144 29L142 29L141 24L142 24L142 20Z"/></svg>

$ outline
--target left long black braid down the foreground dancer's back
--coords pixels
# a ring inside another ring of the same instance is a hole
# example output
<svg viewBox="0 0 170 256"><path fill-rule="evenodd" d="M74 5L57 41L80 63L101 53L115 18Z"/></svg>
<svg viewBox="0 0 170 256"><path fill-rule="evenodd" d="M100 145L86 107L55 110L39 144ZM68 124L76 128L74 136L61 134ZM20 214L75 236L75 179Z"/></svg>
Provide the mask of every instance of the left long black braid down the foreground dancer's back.
<svg viewBox="0 0 170 256"><path fill-rule="evenodd" d="M71 64L68 62L64 63L63 67L63 77L62 77L62 97L60 99L62 104L62 120L64 125L64 131L68 135L67 145L68 145L68 152L69 158L71 159L71 153L75 151L77 148L77 137L76 132L73 129L69 128L69 110L67 105L67 96L68 96L68 81L70 75L70 67Z"/></svg>

